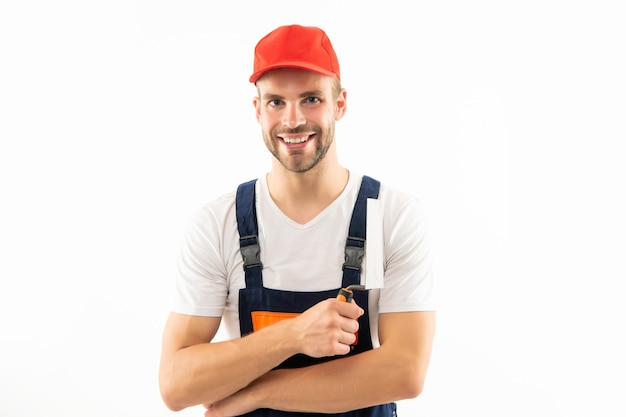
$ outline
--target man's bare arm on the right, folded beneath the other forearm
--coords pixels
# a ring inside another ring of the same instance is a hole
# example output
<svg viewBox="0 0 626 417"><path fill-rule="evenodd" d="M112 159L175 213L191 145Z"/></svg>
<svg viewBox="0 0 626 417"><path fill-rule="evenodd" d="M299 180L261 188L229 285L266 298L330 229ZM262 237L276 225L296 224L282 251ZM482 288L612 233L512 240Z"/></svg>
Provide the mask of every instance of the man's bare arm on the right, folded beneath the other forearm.
<svg viewBox="0 0 626 417"><path fill-rule="evenodd" d="M424 385L434 333L434 312L381 314L380 348L321 365L269 372L209 406L207 416L257 408L337 413L414 398Z"/></svg>

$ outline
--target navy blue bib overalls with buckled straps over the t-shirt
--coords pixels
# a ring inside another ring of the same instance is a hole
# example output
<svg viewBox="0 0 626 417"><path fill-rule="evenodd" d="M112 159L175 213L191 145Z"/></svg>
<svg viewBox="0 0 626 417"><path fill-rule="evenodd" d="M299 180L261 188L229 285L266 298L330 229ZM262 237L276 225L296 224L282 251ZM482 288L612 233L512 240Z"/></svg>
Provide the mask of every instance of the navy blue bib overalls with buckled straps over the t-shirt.
<svg viewBox="0 0 626 417"><path fill-rule="evenodd" d="M263 286L260 247L255 204L255 182L248 181L237 189L236 213L240 236L240 249L243 257L246 287L239 290L239 325L241 335L254 331L253 316L258 312L267 314L294 314L302 313L320 301L335 298L340 288L317 292L280 291ZM364 176L357 200L352 212L348 238L345 248L345 263L343 264L343 278L341 286L346 288L351 284L360 284L361 261L365 249L366 207L368 198L378 198L380 183ZM357 342L351 352L344 356L312 358L298 354L285 360L277 368L300 368L310 366L345 356L356 355L372 349L372 338L369 325L368 293L354 291L354 300L365 310L359 318ZM382 404L360 410L333 414L338 417L394 417L396 404ZM284 416L329 416L320 413L292 413L270 409L259 409L245 414L250 417L284 417Z"/></svg>

